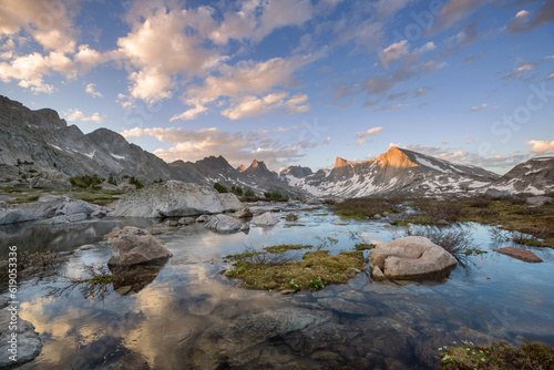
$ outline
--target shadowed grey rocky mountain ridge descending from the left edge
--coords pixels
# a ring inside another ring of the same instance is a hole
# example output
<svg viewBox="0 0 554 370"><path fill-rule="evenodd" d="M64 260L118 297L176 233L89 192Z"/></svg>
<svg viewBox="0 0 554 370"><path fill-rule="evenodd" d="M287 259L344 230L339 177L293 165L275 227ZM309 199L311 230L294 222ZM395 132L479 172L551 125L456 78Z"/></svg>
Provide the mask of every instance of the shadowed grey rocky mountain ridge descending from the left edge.
<svg viewBox="0 0 554 370"><path fill-rule="evenodd" d="M252 188L258 195L264 192L301 195L301 191L288 186L263 162L254 161L244 171L233 168L223 156L168 164L113 131L99 129L85 135L53 110L32 111L0 95L0 182L21 181L22 174L28 179L42 174L41 179L60 183L85 174L105 178L113 175L119 179L136 176L145 183L178 179L209 187L219 182L227 187ZM38 179L34 177L30 183L48 183Z"/></svg>

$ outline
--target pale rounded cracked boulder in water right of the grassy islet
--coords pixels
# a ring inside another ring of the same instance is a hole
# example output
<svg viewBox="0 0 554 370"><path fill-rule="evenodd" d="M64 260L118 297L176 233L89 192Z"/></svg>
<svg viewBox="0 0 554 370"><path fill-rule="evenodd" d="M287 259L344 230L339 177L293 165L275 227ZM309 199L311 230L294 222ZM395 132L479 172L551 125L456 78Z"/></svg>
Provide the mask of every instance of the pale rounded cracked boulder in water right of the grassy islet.
<svg viewBox="0 0 554 370"><path fill-rule="evenodd" d="M370 268L372 275L382 273L389 279L409 279L449 270L456 263L428 238L408 236L377 245L371 250Z"/></svg>

